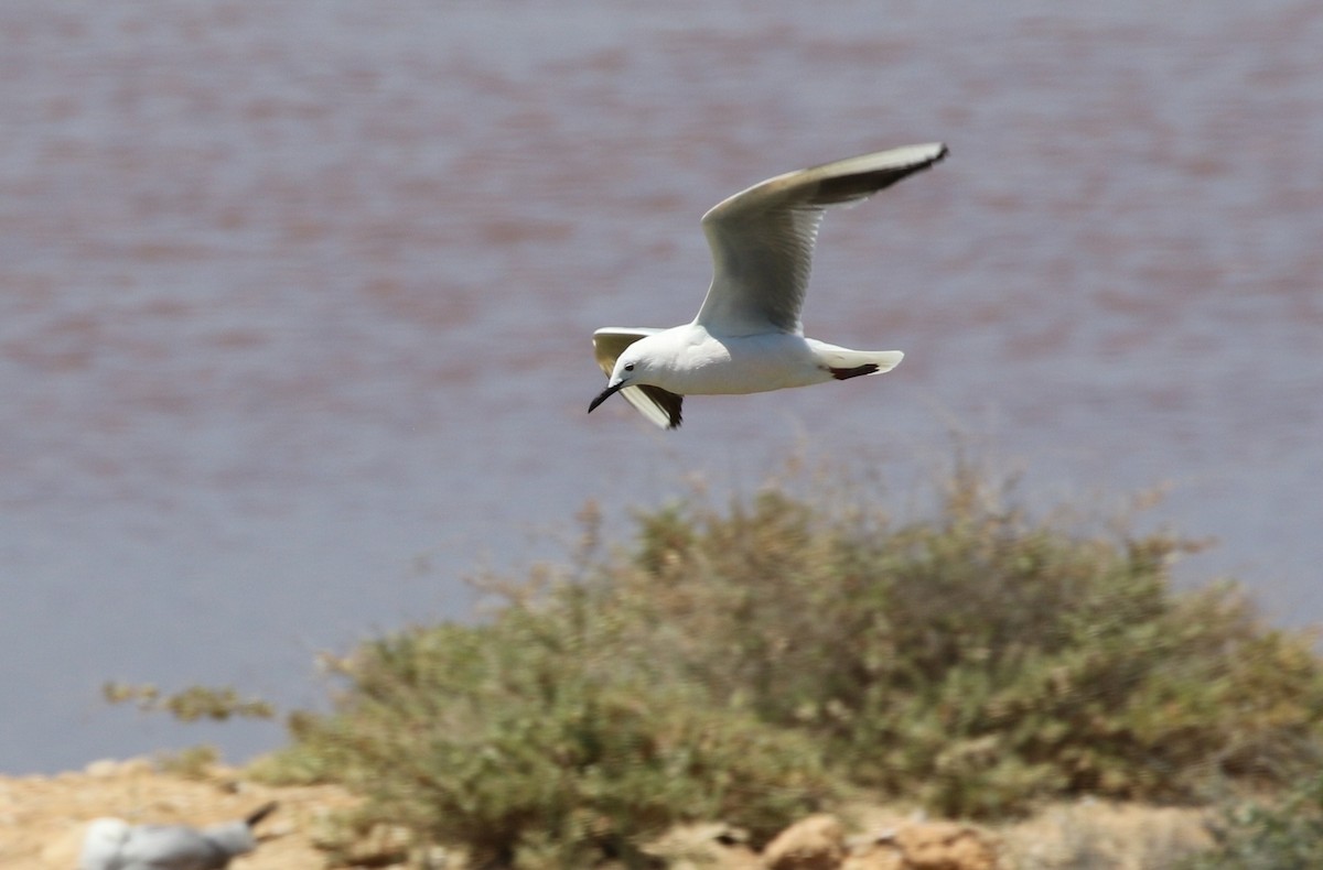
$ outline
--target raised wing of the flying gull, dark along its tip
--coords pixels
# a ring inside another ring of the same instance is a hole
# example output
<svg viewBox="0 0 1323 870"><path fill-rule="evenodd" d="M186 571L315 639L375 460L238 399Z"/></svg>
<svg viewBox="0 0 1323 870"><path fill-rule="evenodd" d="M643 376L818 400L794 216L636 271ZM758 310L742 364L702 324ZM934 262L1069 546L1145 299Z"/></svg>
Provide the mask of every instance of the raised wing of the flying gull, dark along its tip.
<svg viewBox="0 0 1323 870"><path fill-rule="evenodd" d="M941 143L878 151L787 172L718 202L703 216L713 274L695 323L722 336L802 333L826 209L865 200L945 156Z"/></svg>

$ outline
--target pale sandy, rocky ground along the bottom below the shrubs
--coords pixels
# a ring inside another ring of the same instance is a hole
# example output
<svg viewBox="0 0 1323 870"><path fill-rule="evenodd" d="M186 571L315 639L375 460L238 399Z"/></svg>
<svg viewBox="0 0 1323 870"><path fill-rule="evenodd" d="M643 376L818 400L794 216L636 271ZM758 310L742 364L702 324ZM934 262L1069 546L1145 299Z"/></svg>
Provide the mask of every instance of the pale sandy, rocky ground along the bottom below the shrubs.
<svg viewBox="0 0 1323 870"><path fill-rule="evenodd" d="M266 801L279 811L262 822L261 848L233 870L320 870L335 848L355 866L390 866L406 849L400 832L366 832L348 841L331 820L353 807L340 788L277 788L247 781L232 768L202 775L157 771L151 762L97 762L77 773L0 776L0 867L73 870L86 822L118 816L131 822L209 825L246 816ZM1015 826L983 829L877 807L814 816L787 829L761 854L720 824L672 830L650 846L675 870L1049 870L1164 867L1207 848L1196 809L1081 803L1058 805ZM435 850L433 867L462 867Z"/></svg>

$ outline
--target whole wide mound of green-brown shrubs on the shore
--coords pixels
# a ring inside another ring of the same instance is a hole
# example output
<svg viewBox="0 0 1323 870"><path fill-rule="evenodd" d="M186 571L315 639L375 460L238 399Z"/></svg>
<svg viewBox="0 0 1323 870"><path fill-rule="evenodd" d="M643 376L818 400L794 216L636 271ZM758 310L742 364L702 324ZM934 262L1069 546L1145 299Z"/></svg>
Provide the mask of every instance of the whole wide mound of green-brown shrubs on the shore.
<svg viewBox="0 0 1323 870"><path fill-rule="evenodd" d="M636 526L569 578L507 584L486 624L365 644L275 767L529 867L642 861L697 818L757 842L828 781L999 817L1312 770L1310 639L1233 586L1174 592L1191 546L1168 534L1031 520L963 465L922 521L781 487Z"/></svg>

